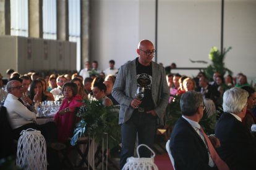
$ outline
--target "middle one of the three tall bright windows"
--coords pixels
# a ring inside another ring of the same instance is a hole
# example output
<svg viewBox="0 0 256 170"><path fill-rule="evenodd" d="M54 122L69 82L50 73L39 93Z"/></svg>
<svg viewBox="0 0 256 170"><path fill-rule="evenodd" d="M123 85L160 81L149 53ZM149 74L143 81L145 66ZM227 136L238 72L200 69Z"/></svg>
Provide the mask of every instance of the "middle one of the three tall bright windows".
<svg viewBox="0 0 256 170"><path fill-rule="evenodd" d="M43 38L57 39L56 0L43 0Z"/></svg>

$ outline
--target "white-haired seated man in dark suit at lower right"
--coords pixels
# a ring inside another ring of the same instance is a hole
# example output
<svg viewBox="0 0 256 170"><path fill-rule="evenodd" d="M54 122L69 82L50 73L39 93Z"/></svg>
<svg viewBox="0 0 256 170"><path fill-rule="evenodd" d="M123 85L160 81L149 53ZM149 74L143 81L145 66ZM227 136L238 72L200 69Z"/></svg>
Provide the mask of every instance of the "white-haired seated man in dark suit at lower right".
<svg viewBox="0 0 256 170"><path fill-rule="evenodd" d="M221 147L217 152L231 169L256 169L256 145L249 129L242 123L247 109L248 92L233 87L224 92L223 111L215 134Z"/></svg>

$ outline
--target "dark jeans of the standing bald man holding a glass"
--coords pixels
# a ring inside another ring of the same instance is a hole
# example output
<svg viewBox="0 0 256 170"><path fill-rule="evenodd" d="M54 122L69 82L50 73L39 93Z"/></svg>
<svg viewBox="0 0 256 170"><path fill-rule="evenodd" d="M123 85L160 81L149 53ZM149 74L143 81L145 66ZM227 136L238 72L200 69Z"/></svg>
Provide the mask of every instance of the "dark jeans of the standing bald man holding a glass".
<svg viewBox="0 0 256 170"><path fill-rule="evenodd" d="M120 168L126 164L127 158L134 156L135 141L138 134L139 145L145 144L152 148L156 134L156 117L150 113L135 110L131 118L121 125L122 149L120 154ZM150 150L145 147L139 149L140 158L150 158ZM138 156L139 156L138 155Z"/></svg>

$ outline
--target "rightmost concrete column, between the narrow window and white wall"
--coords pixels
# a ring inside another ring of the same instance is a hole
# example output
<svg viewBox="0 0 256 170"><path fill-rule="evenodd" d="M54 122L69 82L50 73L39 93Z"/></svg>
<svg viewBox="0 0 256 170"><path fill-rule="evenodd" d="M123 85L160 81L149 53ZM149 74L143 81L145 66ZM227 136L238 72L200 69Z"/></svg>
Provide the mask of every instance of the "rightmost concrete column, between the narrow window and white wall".
<svg viewBox="0 0 256 170"><path fill-rule="evenodd" d="M89 17L90 0L81 1L81 68L89 59Z"/></svg>

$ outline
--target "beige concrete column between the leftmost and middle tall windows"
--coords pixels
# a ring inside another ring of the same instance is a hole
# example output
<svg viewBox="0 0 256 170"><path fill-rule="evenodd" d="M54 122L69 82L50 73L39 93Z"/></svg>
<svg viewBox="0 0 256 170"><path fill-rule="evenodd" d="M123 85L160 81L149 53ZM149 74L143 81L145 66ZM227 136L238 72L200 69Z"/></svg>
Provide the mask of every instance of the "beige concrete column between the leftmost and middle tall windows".
<svg viewBox="0 0 256 170"><path fill-rule="evenodd" d="M28 36L43 38L43 0L28 0Z"/></svg>

